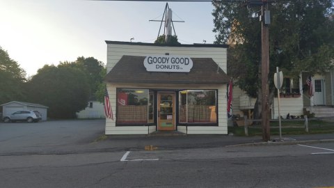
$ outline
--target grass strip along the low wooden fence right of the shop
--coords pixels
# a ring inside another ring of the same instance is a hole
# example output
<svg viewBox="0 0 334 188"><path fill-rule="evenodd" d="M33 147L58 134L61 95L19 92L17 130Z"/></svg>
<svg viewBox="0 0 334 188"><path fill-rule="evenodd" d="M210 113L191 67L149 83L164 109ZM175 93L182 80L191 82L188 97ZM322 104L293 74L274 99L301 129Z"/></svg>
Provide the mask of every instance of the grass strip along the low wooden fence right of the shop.
<svg viewBox="0 0 334 188"><path fill-rule="evenodd" d="M282 134L328 134L334 133L334 123L326 122L322 120L310 120L308 122L309 132L305 132L304 121L283 121L282 122ZM244 127L228 127L228 132L233 133L237 136L245 136ZM279 135L279 124L278 122L270 123L270 134ZM261 125L250 125L248 126L249 136L260 136L262 135Z"/></svg>

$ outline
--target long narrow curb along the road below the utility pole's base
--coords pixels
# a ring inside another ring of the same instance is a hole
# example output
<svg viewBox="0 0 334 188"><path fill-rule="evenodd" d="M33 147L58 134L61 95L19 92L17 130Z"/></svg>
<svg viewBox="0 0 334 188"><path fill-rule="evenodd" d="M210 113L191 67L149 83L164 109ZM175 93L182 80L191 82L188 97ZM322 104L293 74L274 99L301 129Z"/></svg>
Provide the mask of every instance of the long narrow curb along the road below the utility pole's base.
<svg viewBox="0 0 334 188"><path fill-rule="evenodd" d="M235 146L282 146L282 145L295 145L299 143L333 143L334 139L323 140L308 140L308 141L268 141L268 142L254 142L254 143L241 143L236 145L230 145L225 147Z"/></svg>

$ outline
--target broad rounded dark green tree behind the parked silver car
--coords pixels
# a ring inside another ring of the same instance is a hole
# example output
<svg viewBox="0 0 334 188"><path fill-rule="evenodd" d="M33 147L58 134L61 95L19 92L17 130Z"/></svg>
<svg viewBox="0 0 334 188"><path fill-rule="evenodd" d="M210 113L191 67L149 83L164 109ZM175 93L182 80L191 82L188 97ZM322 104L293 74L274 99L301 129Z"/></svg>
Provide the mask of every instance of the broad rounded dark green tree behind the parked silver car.
<svg viewBox="0 0 334 188"><path fill-rule="evenodd" d="M79 68L45 65L28 83L29 98L49 107L51 118L74 118L87 107L90 97L88 77Z"/></svg>

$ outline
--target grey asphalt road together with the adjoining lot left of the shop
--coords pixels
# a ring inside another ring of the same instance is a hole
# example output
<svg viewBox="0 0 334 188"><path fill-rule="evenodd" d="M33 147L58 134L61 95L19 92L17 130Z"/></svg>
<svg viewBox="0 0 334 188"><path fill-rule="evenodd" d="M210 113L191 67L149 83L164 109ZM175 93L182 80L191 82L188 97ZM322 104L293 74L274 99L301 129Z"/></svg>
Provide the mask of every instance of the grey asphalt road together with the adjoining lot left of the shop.
<svg viewBox="0 0 334 188"><path fill-rule="evenodd" d="M216 140L229 137L214 137L214 146L207 141L191 147L192 139L209 137L116 136L95 143L103 133L101 120L49 125L0 124L0 187L334 186L333 142L226 147ZM189 142L189 147L141 147L156 140L164 146Z"/></svg>

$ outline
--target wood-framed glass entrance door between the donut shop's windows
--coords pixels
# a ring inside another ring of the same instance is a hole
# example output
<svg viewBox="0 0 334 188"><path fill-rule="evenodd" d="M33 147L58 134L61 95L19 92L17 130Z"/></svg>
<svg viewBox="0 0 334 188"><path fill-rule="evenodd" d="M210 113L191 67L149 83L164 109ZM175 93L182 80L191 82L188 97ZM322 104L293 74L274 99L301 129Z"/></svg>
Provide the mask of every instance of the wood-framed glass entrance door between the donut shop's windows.
<svg viewBox="0 0 334 188"><path fill-rule="evenodd" d="M175 93L158 93L158 130L175 130Z"/></svg>

